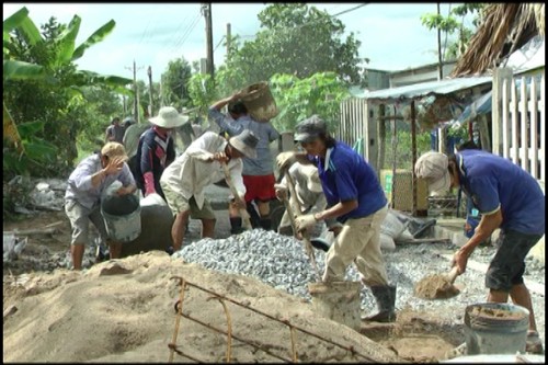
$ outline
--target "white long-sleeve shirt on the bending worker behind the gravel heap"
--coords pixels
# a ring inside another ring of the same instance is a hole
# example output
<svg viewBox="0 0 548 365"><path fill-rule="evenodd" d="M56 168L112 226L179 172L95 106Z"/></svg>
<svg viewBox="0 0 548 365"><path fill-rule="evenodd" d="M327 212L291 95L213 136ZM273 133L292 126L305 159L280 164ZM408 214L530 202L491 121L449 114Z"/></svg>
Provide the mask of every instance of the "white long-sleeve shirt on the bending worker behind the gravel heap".
<svg viewBox="0 0 548 365"><path fill-rule="evenodd" d="M218 161L207 162L215 152L224 152L228 141L214 132L206 132L194 140L164 171L160 181L186 199L194 196L196 205L204 205L204 189L225 178ZM246 195L241 159L230 159L227 163L232 183L240 196Z"/></svg>

